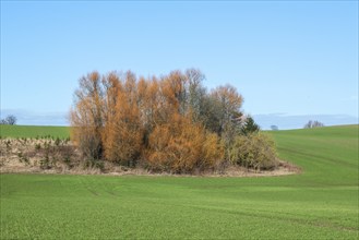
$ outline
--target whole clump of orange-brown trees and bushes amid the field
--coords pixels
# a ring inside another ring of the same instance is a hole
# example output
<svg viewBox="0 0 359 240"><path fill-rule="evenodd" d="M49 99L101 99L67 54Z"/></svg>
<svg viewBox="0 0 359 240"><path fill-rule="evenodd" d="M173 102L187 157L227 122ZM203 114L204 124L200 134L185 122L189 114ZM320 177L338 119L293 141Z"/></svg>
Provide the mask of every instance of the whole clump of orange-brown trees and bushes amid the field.
<svg viewBox="0 0 359 240"><path fill-rule="evenodd" d="M70 112L72 141L84 158L159 172L275 167L273 141L243 116L242 96L230 85L207 91L204 79L195 69L88 73Z"/></svg>

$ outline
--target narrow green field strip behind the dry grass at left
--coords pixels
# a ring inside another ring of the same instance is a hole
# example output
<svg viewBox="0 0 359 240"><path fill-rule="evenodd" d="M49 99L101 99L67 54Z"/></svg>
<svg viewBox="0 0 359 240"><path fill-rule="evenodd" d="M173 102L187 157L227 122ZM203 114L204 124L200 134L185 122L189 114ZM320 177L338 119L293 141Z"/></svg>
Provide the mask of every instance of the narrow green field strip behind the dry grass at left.
<svg viewBox="0 0 359 240"><path fill-rule="evenodd" d="M59 137L70 136L69 127L0 125L1 137Z"/></svg>

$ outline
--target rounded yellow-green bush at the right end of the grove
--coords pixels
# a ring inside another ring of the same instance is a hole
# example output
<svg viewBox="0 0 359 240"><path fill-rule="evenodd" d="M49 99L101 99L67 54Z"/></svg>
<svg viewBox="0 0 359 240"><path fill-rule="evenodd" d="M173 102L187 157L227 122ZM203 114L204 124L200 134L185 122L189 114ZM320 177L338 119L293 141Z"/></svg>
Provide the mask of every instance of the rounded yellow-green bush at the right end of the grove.
<svg viewBox="0 0 359 240"><path fill-rule="evenodd" d="M255 170L273 169L277 165L275 144L263 133L238 135L229 148L232 164Z"/></svg>

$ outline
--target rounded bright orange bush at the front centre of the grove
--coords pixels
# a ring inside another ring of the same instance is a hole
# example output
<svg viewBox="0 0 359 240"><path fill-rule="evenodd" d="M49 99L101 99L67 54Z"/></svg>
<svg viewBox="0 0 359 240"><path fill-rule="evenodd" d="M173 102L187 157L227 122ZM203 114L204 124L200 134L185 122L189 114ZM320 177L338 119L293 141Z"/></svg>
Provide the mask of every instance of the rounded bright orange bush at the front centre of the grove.
<svg viewBox="0 0 359 240"><path fill-rule="evenodd" d="M175 173L215 169L223 161L223 146L215 133L206 133L189 118L157 127L149 135L147 165L156 171Z"/></svg>

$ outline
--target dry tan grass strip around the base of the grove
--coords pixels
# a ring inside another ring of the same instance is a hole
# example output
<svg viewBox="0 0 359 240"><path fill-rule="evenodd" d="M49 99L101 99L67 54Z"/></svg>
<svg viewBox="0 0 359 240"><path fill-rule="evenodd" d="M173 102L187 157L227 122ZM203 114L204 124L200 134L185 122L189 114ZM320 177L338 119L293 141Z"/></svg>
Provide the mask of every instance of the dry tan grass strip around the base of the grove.
<svg viewBox="0 0 359 240"><path fill-rule="evenodd" d="M67 159L65 159L67 158ZM239 166L227 167L224 171L199 172L200 177L266 177L299 173L301 170L285 161L274 170L255 171ZM113 163L104 161L98 168L82 160L79 151L71 142L60 140L1 139L0 173L60 173L60 175L108 175L108 176L180 176L164 172L152 172L144 168L127 168Z"/></svg>

